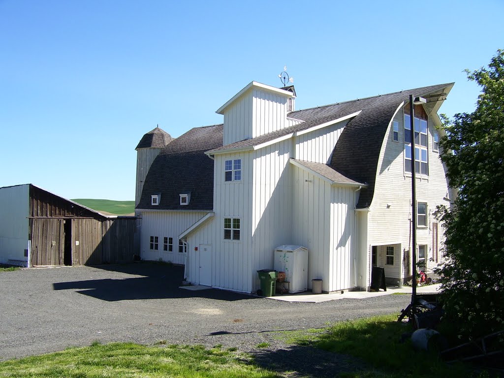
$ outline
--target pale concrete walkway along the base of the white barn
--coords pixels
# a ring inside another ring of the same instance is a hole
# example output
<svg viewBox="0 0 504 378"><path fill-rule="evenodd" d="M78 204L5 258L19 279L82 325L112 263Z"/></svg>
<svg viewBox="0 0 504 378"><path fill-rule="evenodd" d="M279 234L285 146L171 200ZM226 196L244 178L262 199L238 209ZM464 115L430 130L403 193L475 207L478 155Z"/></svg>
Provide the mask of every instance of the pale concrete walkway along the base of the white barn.
<svg viewBox="0 0 504 378"><path fill-rule="evenodd" d="M418 294L422 293L438 293L440 284L418 286L416 292ZM413 291L411 286L390 286L387 287L387 291L345 291L343 294L312 294L311 291L305 291L302 293L295 294L283 294L274 297L268 297L275 300L283 300L286 302L308 302L308 303L320 303L326 302L328 300L337 299L362 299L369 297L377 297L382 295L390 295L394 293L405 293L409 294Z"/></svg>

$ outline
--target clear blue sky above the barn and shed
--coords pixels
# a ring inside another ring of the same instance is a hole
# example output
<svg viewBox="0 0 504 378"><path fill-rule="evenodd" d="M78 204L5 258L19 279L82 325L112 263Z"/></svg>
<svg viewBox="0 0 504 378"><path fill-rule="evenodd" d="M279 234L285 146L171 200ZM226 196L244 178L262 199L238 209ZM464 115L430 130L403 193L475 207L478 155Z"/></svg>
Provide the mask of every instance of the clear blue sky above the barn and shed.
<svg viewBox="0 0 504 378"><path fill-rule="evenodd" d="M503 48L504 2L0 0L0 186L135 199L135 147L222 122L255 80L296 108L456 82L440 112L470 112L464 69Z"/></svg>

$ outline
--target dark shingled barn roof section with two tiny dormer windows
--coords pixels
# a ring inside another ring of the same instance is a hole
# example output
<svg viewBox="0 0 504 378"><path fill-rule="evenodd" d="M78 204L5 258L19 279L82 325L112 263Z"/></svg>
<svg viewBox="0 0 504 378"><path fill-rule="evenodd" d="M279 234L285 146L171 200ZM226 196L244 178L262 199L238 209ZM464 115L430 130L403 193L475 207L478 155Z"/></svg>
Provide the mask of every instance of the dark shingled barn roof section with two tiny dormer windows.
<svg viewBox="0 0 504 378"><path fill-rule="evenodd" d="M213 210L214 161L205 151L222 146L223 125L194 128L174 139L154 159L145 178L137 209ZM191 192L188 205L180 194ZM161 194L159 205L151 195Z"/></svg>

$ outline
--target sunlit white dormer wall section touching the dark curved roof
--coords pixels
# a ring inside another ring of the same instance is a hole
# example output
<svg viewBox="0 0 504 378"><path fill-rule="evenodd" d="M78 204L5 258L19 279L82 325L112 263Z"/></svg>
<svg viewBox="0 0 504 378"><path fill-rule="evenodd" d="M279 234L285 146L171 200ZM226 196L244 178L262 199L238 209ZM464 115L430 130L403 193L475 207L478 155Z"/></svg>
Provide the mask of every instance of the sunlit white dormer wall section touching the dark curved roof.
<svg viewBox="0 0 504 378"><path fill-rule="evenodd" d="M327 164L348 120L296 137L295 159Z"/></svg>

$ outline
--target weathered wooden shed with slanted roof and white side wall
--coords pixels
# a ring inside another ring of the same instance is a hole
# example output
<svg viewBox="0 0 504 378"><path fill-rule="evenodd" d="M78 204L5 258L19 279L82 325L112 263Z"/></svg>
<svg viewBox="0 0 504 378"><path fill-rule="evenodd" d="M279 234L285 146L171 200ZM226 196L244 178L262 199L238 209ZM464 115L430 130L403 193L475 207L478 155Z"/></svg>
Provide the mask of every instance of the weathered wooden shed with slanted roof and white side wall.
<svg viewBox="0 0 504 378"><path fill-rule="evenodd" d="M33 184L2 187L0 263L36 267L131 262L135 223L135 217L106 216Z"/></svg>

